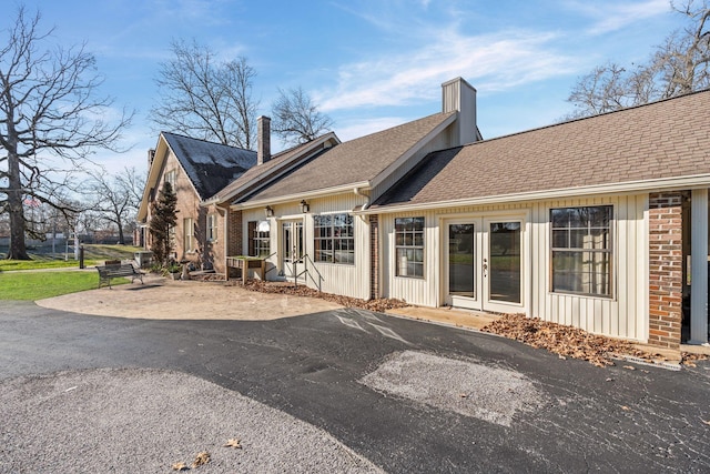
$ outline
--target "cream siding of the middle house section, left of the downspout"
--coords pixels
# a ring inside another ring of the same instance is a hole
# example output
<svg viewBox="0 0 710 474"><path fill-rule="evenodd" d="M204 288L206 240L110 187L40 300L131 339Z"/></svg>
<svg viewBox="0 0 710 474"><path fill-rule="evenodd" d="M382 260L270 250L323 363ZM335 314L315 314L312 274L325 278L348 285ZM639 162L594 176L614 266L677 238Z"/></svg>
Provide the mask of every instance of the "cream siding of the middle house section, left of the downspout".
<svg viewBox="0 0 710 474"><path fill-rule="evenodd" d="M313 216L338 213L352 214L354 208L363 204L365 204L364 196L358 196L355 193L348 193L308 200L311 209L306 214L301 213L298 202L272 205L274 216L268 219L271 224L270 243L271 253L276 253L267 260L266 268L268 270L270 268L275 266L276 270L268 271L266 279L283 279L280 278L280 274L283 271L281 261L283 246L283 236L281 233L282 223L285 221L302 220L304 252L308 258L305 259L304 262L307 275L302 276L301 281L307 286L325 293L341 294L364 300L369 299L369 222L367 218L357 215L353 216L355 243L354 265L314 261L315 229ZM245 234L244 249L248 249L248 236L246 236L247 222L265 220L266 218L264 209L245 210L243 215Z"/></svg>

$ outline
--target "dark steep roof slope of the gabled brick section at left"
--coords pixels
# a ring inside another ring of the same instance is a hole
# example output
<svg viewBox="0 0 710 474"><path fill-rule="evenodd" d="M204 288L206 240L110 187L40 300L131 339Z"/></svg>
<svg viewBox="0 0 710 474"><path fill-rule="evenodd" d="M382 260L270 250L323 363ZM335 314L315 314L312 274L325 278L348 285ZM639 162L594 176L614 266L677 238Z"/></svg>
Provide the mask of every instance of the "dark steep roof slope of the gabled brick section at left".
<svg viewBox="0 0 710 474"><path fill-rule="evenodd" d="M201 199L210 198L256 164L256 152L163 132Z"/></svg>

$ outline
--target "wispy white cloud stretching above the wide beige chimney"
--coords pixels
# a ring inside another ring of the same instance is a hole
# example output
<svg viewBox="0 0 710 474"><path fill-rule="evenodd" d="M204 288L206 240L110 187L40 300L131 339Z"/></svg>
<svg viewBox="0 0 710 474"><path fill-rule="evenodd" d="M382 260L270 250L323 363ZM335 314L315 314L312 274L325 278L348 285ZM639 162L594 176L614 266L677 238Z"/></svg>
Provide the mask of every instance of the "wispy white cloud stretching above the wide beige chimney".
<svg viewBox="0 0 710 474"><path fill-rule="evenodd" d="M455 29L414 51L342 65L334 90L316 93L324 111L403 105L438 95L438 84L463 77L498 91L566 74L578 60L554 51L554 33L503 31L464 36Z"/></svg>

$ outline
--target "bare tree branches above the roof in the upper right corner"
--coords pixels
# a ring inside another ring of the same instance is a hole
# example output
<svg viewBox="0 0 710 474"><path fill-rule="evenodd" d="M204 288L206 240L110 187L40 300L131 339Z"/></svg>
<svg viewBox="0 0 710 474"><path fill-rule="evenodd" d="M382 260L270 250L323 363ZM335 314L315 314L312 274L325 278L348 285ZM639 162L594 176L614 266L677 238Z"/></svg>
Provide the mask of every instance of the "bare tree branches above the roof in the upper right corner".
<svg viewBox="0 0 710 474"><path fill-rule="evenodd" d="M668 36L643 64L595 68L572 88L576 110L565 119L587 117L710 87L710 8L708 0L671 2L688 26Z"/></svg>

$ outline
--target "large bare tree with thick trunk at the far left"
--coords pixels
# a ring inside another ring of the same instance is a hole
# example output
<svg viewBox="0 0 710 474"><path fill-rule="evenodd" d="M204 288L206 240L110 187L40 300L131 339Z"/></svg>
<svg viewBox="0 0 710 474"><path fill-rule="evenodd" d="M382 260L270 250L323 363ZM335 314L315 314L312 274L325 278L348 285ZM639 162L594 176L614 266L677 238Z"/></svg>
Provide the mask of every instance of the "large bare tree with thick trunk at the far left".
<svg viewBox="0 0 710 474"><path fill-rule="evenodd" d="M19 8L0 43L0 213L10 216L8 259L27 260L26 204L48 204L62 213L60 198L71 177L97 148L118 151L131 120L102 117L111 98L95 98L102 78L84 46L63 49L39 31L40 13ZM31 229L30 229L31 230Z"/></svg>

